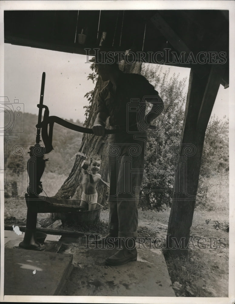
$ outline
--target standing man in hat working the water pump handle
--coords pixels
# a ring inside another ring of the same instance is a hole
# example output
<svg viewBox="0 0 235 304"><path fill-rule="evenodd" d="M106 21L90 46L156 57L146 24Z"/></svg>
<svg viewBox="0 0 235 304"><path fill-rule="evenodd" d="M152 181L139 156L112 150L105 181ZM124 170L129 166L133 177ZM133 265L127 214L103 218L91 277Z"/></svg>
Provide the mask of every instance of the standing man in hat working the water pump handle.
<svg viewBox="0 0 235 304"><path fill-rule="evenodd" d="M90 61L95 62L102 81L109 81L98 95L97 117L92 130L95 135L104 136L108 117L110 127L120 129L119 133L109 135L109 234L101 242L107 244L108 240L117 237L123 240L122 248L106 259L109 265L121 265L137 259L137 208L144 170L146 130L163 111L164 105L146 78L123 73L117 60L112 64L101 63L99 58ZM147 115L146 100L153 103Z"/></svg>

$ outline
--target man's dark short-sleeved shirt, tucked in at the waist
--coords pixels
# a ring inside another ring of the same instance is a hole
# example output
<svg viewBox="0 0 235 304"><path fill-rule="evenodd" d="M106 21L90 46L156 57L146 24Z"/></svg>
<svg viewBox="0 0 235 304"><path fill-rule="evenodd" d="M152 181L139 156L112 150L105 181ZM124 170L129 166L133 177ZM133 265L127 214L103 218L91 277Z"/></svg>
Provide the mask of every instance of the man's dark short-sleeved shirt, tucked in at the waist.
<svg viewBox="0 0 235 304"><path fill-rule="evenodd" d="M97 99L97 114L105 112L107 117L110 116L110 126L123 126L126 125L127 121L129 126L137 123L137 110L145 113L146 109L146 102L143 97L158 95L153 85L142 75L121 73L116 92L114 92L112 82L109 81L99 93ZM127 104L130 102L133 106L129 105L127 108Z"/></svg>

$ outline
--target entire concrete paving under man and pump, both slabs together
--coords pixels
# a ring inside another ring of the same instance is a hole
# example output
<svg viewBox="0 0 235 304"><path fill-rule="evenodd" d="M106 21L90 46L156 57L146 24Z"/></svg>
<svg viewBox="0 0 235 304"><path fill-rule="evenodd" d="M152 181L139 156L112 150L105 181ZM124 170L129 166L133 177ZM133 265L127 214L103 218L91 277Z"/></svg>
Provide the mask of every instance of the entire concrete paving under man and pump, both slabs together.
<svg viewBox="0 0 235 304"><path fill-rule="evenodd" d="M84 237L46 240L45 251L37 252L18 248L23 235L7 233L5 236L10 239L5 250L12 252L10 255L5 251L5 295L175 296L159 249L146 249L137 244L136 262L107 266L105 258L117 248L96 249L90 244L90 249L86 249ZM67 254L70 259L61 260ZM71 273L72 255L74 270ZM38 267L43 270L33 275L32 268Z"/></svg>

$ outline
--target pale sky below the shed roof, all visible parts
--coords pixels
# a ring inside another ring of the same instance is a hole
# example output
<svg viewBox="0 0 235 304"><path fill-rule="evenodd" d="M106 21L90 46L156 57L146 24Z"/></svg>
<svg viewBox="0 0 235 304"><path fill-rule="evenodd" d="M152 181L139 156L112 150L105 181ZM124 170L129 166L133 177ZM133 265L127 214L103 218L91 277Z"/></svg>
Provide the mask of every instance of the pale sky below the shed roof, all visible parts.
<svg viewBox="0 0 235 304"><path fill-rule="evenodd" d="M38 114L37 104L40 99L42 73L46 73L43 103L49 107L50 115L64 119L85 120L88 105L84 95L95 84L87 80L90 63L86 56L70 54L32 47L23 47L5 43L4 45L4 95L10 102L18 99L24 104L25 112ZM162 71L169 66L163 66ZM170 67L170 74L180 74L180 78L189 79L189 68ZM186 89L188 81L186 83ZM229 88L220 85L212 115L220 119L228 116Z"/></svg>

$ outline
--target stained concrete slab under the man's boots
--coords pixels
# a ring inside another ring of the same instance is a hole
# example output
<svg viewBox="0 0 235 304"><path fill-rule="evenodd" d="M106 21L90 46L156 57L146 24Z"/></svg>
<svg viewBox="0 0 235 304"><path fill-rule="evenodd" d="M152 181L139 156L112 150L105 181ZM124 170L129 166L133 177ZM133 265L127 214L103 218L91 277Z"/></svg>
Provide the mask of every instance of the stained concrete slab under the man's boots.
<svg viewBox="0 0 235 304"><path fill-rule="evenodd" d="M136 262L107 266L105 258L117 249L90 247L80 239L64 251L73 254L75 268L61 295L175 297L161 250L137 246Z"/></svg>

